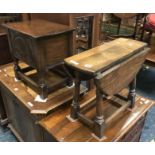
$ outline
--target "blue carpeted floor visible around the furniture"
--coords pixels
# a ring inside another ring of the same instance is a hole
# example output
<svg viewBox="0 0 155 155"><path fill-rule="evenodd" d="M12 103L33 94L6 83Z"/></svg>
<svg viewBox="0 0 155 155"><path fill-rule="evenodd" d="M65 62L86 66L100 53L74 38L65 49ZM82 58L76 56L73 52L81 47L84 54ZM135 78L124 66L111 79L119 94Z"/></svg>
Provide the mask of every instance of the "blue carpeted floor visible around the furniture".
<svg viewBox="0 0 155 155"><path fill-rule="evenodd" d="M137 77L137 93L155 100L155 68L142 69ZM15 136L8 128L0 126L0 142L16 142ZM155 106L147 114L141 142L155 141Z"/></svg>

